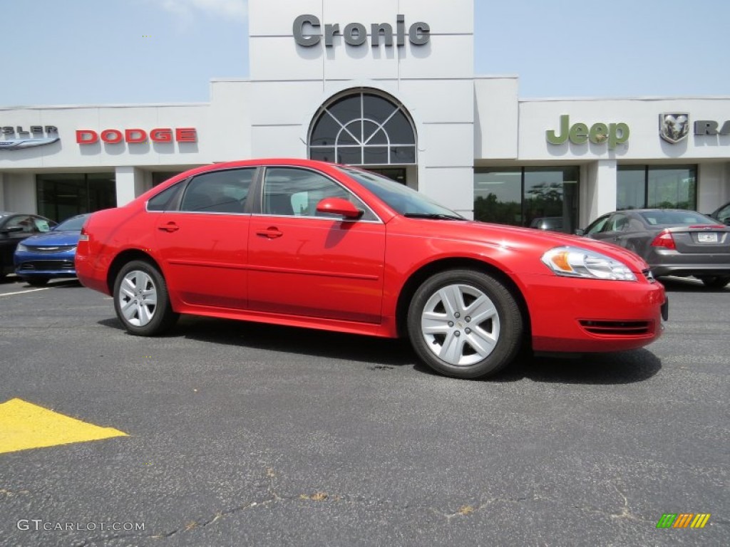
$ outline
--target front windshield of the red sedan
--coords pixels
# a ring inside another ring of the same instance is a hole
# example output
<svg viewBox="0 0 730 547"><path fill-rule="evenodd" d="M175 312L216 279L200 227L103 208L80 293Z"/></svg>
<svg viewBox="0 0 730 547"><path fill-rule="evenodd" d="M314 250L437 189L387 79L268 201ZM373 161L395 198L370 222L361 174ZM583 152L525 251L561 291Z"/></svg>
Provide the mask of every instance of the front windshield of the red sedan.
<svg viewBox="0 0 730 547"><path fill-rule="evenodd" d="M391 209L395 209L405 217L434 218L444 220L466 220L460 214L439 205L435 201L426 198L425 195L416 190L401 185L391 179L352 167L338 166L339 170L347 176L351 176L361 185L370 190L378 198L388 203Z"/></svg>

